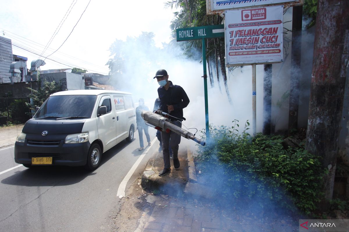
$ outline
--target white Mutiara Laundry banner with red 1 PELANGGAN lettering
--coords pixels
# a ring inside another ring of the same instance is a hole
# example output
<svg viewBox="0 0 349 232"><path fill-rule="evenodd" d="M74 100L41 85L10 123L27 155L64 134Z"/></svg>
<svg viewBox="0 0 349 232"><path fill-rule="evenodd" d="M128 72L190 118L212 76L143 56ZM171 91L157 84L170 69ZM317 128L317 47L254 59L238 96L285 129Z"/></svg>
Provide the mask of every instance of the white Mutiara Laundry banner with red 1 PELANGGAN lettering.
<svg viewBox="0 0 349 232"><path fill-rule="evenodd" d="M282 62L283 6L225 11L225 65Z"/></svg>

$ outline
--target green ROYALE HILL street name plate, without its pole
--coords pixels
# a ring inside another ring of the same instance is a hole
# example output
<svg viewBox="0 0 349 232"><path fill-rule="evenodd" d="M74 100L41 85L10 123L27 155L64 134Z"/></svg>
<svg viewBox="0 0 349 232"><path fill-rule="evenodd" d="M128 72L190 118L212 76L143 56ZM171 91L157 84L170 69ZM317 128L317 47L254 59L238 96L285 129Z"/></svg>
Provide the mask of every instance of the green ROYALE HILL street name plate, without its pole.
<svg viewBox="0 0 349 232"><path fill-rule="evenodd" d="M224 25L209 25L176 30L177 41L224 37Z"/></svg>

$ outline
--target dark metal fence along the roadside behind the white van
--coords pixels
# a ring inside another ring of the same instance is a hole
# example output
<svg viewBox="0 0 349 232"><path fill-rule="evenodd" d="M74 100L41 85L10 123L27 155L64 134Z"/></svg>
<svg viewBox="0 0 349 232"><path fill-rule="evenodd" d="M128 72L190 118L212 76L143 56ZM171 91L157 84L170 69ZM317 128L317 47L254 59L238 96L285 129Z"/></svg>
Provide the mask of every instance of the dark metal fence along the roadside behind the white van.
<svg viewBox="0 0 349 232"><path fill-rule="evenodd" d="M0 98L0 125L28 121L31 116L29 107L25 105L26 102L30 102L29 97Z"/></svg>

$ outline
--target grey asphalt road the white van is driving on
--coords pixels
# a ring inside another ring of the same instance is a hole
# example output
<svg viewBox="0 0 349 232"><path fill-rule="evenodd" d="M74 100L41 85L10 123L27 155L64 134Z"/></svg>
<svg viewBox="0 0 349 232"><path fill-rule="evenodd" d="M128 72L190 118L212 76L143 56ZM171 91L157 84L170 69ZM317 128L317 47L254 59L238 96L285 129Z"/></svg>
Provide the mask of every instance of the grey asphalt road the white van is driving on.
<svg viewBox="0 0 349 232"><path fill-rule="evenodd" d="M149 128L151 141L155 129ZM146 138L143 133L143 140ZM140 155L138 132L103 153L93 172L82 167L23 166L0 174L0 231L99 231L120 207L118 188ZM133 183L158 149L150 147L127 183ZM0 173L18 166L14 147L0 149Z"/></svg>

